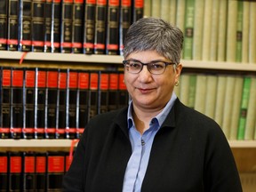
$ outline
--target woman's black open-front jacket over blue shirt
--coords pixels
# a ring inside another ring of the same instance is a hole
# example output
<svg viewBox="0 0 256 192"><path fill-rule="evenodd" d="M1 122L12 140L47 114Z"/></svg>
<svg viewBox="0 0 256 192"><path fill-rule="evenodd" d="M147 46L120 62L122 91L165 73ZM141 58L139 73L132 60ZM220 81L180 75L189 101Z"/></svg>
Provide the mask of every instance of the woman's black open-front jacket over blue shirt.
<svg viewBox="0 0 256 192"><path fill-rule="evenodd" d="M132 147L127 108L87 125L63 191L121 192ZM141 192L240 192L239 175L220 126L175 100L156 133Z"/></svg>

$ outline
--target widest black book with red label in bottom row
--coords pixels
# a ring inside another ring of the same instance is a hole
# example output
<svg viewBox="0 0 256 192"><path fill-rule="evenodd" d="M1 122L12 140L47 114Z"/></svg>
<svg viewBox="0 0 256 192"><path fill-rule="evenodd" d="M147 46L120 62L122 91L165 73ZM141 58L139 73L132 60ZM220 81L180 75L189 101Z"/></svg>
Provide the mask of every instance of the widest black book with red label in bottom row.
<svg viewBox="0 0 256 192"><path fill-rule="evenodd" d="M60 191L65 173L65 152L48 151L46 161L46 191Z"/></svg>

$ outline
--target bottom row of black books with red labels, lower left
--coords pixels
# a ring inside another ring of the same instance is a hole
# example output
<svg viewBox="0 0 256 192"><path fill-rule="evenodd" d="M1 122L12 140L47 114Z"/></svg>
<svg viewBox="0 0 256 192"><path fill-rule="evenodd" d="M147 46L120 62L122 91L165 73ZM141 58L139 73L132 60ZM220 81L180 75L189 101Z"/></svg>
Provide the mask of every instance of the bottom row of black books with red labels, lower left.
<svg viewBox="0 0 256 192"><path fill-rule="evenodd" d="M0 152L0 191L61 191L68 152Z"/></svg>

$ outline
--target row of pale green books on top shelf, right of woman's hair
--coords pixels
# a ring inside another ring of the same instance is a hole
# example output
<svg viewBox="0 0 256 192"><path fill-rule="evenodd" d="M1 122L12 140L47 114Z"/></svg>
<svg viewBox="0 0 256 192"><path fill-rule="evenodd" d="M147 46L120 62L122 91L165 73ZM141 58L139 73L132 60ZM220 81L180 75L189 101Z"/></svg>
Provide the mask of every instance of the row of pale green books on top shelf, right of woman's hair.
<svg viewBox="0 0 256 192"><path fill-rule="evenodd" d="M177 25L185 35L183 59L256 63L256 2L145 0L144 15Z"/></svg>

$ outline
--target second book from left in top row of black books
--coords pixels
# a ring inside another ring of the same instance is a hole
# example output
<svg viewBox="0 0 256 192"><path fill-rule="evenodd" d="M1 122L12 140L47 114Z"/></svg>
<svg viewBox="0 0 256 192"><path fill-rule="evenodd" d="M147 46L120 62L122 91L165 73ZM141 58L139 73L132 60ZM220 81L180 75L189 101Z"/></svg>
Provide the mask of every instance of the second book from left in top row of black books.
<svg viewBox="0 0 256 192"><path fill-rule="evenodd" d="M18 51L19 38L19 1L9 0L8 4L8 29L7 29L7 50Z"/></svg>

